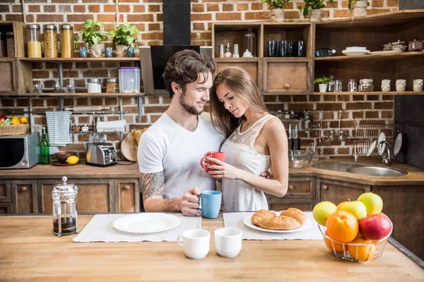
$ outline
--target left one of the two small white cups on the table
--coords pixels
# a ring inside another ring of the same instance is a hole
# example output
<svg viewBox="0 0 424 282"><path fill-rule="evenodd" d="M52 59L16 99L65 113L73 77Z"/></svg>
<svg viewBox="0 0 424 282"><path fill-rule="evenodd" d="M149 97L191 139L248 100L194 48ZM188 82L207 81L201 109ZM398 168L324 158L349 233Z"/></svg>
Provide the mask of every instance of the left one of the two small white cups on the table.
<svg viewBox="0 0 424 282"><path fill-rule="evenodd" d="M178 236L177 243L184 247L190 259L203 259L208 255L211 233L204 229L190 229Z"/></svg>

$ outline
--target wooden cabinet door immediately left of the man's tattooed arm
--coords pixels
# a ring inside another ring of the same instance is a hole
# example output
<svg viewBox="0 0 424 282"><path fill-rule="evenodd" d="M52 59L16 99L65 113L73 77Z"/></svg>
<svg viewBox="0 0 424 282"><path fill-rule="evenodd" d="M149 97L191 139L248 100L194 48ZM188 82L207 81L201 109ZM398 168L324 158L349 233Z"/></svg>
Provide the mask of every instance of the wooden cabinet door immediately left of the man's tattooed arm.
<svg viewBox="0 0 424 282"><path fill-rule="evenodd" d="M140 212L138 179L115 179L115 212Z"/></svg>

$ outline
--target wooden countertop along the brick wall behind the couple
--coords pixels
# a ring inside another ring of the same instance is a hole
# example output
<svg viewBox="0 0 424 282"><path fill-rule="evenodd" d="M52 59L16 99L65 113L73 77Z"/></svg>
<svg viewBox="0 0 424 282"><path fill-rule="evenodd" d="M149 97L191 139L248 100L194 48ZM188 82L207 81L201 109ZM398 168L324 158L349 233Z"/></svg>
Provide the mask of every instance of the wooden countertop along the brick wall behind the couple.
<svg viewBox="0 0 424 282"><path fill-rule="evenodd" d="M343 161L353 163L353 159L324 159L322 161ZM321 162L321 161L320 161ZM384 166L381 159L361 159L359 164L370 164L373 166ZM396 177L374 177L358 176L353 173L338 171L326 171L324 169L305 166L304 168L290 168L289 175L296 176L318 176L333 180L342 180L365 185L424 185L424 171L408 164L393 162L393 168L401 168L408 171L406 176ZM115 165L109 167L87 166L85 163L74 166L42 166L37 164L29 169L4 169L0 170L0 179L46 179L62 176L68 178L139 178L139 166L137 164Z"/></svg>

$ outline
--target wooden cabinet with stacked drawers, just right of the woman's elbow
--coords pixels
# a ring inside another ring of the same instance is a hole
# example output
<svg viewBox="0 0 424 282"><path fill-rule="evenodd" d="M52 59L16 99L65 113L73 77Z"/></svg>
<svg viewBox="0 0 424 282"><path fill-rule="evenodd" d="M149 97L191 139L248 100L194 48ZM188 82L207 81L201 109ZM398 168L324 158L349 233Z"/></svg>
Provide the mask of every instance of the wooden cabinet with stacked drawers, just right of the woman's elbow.
<svg viewBox="0 0 424 282"><path fill-rule="evenodd" d="M295 207L302 211L311 211L316 204L316 185L314 177L288 178L288 191L284 197L266 194L268 207L273 211L281 211Z"/></svg>

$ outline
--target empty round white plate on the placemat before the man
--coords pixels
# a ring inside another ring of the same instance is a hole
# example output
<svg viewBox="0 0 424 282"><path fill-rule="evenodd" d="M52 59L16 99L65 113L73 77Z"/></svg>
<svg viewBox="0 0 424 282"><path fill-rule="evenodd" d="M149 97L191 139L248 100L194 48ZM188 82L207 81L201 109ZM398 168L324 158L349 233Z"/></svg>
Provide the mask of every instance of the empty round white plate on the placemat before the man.
<svg viewBox="0 0 424 282"><path fill-rule="evenodd" d="M181 221L172 214L146 212L122 216L113 221L113 227L130 233L155 233L179 226Z"/></svg>

